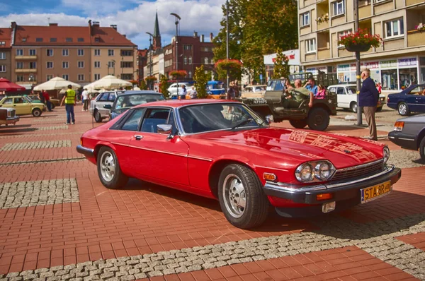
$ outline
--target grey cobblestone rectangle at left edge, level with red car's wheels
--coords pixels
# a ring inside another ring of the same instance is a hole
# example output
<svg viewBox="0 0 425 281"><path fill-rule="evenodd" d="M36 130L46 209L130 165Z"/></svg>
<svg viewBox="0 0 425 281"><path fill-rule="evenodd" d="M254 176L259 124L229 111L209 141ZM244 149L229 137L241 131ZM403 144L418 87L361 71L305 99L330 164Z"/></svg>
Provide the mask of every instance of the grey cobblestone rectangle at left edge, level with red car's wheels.
<svg viewBox="0 0 425 281"><path fill-rule="evenodd" d="M18 181L0 184L0 208L79 202L76 179Z"/></svg>

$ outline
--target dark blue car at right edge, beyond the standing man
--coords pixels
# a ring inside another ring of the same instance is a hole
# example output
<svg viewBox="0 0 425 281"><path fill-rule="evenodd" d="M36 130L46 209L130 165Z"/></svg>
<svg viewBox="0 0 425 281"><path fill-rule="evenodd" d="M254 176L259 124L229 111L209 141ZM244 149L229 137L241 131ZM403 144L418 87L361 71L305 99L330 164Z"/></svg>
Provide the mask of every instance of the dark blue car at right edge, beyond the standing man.
<svg viewBox="0 0 425 281"><path fill-rule="evenodd" d="M408 116L411 112L425 113L425 84L414 84L398 94L390 94L387 107L397 109L400 115Z"/></svg>

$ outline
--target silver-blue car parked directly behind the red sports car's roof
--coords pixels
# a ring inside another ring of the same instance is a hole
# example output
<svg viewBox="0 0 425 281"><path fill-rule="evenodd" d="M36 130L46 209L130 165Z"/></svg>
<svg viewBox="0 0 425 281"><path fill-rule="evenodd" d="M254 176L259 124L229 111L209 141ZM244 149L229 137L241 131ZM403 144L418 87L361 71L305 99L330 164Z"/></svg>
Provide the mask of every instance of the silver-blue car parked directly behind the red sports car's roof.
<svg viewBox="0 0 425 281"><path fill-rule="evenodd" d="M160 92L149 90L134 90L127 91L125 94L119 95L112 105L105 104L104 107L110 110L109 119L112 120L116 116L139 104L157 102L159 100L165 100L164 96Z"/></svg>

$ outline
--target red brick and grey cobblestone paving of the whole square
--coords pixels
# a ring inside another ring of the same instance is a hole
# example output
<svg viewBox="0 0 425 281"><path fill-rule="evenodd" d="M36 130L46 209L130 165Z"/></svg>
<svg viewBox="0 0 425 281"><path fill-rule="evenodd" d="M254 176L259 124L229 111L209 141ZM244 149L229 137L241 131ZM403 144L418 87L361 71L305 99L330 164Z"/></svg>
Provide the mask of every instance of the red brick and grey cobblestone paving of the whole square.
<svg viewBox="0 0 425 281"><path fill-rule="evenodd" d="M243 230L210 199L133 179L105 189L96 166L75 152L81 132L99 124L76 115L57 133L36 128L64 121L60 107L0 128L0 280L425 280L417 152L382 138L402 167L385 198L310 220L271 213ZM333 120L330 131L367 133Z"/></svg>

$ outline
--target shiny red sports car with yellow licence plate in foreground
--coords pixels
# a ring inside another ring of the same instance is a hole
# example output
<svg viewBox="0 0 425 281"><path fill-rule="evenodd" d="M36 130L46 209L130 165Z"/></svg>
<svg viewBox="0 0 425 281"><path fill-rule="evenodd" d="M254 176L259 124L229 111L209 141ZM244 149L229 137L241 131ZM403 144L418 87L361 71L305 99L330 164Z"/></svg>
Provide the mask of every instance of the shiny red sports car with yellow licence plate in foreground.
<svg viewBox="0 0 425 281"><path fill-rule="evenodd" d="M239 102L152 102L87 131L77 150L108 189L135 177L217 198L241 228L261 225L270 205L305 217L367 203L401 176L378 142L269 123Z"/></svg>

